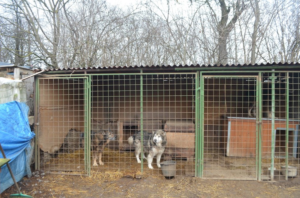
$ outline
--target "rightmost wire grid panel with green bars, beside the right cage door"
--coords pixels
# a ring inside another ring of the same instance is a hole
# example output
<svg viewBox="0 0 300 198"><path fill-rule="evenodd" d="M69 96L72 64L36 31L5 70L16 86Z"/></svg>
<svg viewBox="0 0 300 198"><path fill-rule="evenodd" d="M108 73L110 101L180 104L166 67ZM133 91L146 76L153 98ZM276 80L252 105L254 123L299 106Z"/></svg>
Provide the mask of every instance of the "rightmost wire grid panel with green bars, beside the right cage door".
<svg viewBox="0 0 300 198"><path fill-rule="evenodd" d="M298 176L299 76L287 75L262 76L262 180Z"/></svg>

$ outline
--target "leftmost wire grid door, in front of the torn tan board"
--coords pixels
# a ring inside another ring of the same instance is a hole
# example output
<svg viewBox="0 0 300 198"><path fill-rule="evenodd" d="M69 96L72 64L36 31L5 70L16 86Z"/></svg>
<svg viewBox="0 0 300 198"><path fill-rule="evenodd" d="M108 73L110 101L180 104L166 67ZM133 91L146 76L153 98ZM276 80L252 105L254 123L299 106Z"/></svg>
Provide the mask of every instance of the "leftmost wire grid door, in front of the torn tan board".
<svg viewBox="0 0 300 198"><path fill-rule="evenodd" d="M38 161L44 171L87 174L87 79L38 79Z"/></svg>

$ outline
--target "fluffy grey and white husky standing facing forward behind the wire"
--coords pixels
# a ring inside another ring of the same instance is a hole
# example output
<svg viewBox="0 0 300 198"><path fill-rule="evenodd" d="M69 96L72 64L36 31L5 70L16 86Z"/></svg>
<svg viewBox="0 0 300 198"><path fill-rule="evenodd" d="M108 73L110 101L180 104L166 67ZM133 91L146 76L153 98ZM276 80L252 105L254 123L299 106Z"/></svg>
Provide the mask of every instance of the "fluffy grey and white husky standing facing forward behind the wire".
<svg viewBox="0 0 300 198"><path fill-rule="evenodd" d="M147 152L147 158L143 155L143 158L148 161L148 168L153 169L152 161L156 156L157 167L160 168L160 158L165 150L167 142L166 132L163 130L155 130L152 133L143 131L143 151ZM135 146L135 154L137 157L137 163L140 161L141 153L141 132L137 131L136 134L128 138L128 143Z"/></svg>

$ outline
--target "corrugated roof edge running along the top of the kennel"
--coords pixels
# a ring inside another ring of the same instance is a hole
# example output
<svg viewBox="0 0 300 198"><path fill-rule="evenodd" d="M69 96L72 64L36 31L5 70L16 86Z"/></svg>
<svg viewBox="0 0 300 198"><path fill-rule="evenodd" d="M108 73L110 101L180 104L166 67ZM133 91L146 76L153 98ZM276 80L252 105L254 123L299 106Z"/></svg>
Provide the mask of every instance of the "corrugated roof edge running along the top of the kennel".
<svg viewBox="0 0 300 198"><path fill-rule="evenodd" d="M211 68L215 68L215 67L218 67L218 68L222 68L222 67L263 67L263 66L269 66L269 67L272 67L272 66L300 66L300 64L297 62L297 63L294 63L294 62L291 62L291 63L266 63L266 64L214 64L214 65L211 65L211 64L208 64L208 65L205 65L205 64L196 64L196 65L182 65L182 64L179 64L179 65L140 65L140 66L137 66L137 65L129 65L129 66L109 66L109 67L82 67L82 68L62 68L62 69L48 69L46 71L64 71L64 70L85 70L85 69L132 69L132 68L208 68L208 67L211 67ZM38 70L35 70L35 71L41 71L41 69L38 69Z"/></svg>

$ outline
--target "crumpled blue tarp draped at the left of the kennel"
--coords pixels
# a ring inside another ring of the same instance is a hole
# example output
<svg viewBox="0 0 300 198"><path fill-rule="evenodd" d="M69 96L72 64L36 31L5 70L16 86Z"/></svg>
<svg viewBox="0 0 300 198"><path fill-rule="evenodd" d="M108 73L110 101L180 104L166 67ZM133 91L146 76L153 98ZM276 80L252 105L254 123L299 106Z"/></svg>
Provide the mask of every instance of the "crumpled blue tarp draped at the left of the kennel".
<svg viewBox="0 0 300 198"><path fill-rule="evenodd" d="M10 167L17 181L30 174L29 158L32 153L30 140L35 134L30 130L28 121L29 107L17 101L0 104L0 143L6 155L11 159ZM0 152L0 158L3 158ZM0 193L13 185L7 166L0 173Z"/></svg>

